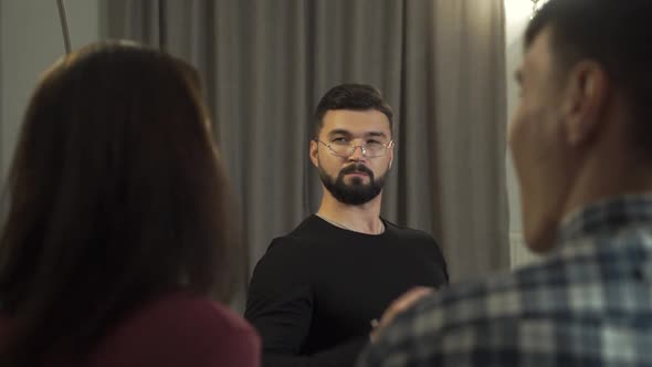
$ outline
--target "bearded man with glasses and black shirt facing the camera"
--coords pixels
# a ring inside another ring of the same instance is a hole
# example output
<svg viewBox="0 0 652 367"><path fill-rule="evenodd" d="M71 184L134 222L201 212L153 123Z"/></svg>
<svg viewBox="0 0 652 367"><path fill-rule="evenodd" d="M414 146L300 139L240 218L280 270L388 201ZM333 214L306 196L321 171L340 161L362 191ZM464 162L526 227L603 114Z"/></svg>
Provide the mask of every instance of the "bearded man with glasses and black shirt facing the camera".
<svg viewBox="0 0 652 367"><path fill-rule="evenodd" d="M380 217L395 157L392 115L368 85L336 86L319 102L309 156L322 205L272 241L248 295L245 317L263 338L264 366L353 366L393 315L448 282L430 235ZM414 286L425 287L392 303Z"/></svg>

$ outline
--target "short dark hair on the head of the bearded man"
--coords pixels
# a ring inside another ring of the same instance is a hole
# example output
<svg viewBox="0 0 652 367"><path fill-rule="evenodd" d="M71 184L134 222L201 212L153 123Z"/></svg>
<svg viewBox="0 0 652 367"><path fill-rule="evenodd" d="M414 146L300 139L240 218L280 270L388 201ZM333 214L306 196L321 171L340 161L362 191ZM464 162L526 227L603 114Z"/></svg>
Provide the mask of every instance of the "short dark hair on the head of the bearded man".
<svg viewBox="0 0 652 367"><path fill-rule="evenodd" d="M387 116L389 129L393 133L393 112L380 91L371 85L340 84L326 92L315 109L315 136L324 126L324 115L332 109L379 111Z"/></svg>

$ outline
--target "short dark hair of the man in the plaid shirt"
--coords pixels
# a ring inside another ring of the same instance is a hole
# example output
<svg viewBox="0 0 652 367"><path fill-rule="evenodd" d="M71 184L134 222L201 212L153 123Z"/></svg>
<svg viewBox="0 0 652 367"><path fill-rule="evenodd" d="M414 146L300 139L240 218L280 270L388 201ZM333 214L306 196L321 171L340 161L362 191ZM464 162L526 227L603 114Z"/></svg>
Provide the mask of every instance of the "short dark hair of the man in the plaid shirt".
<svg viewBox="0 0 652 367"><path fill-rule="evenodd" d="M630 103L635 143L652 146L652 1L550 0L530 21L525 46L548 28L560 73L580 60L599 63Z"/></svg>

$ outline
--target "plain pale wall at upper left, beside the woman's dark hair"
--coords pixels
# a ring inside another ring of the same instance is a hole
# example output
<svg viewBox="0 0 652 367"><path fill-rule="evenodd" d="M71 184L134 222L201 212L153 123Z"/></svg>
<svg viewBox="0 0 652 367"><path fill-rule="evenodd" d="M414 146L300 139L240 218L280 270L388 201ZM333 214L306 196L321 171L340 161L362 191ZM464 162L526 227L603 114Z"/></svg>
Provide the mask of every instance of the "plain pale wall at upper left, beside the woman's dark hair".
<svg viewBox="0 0 652 367"><path fill-rule="evenodd" d="M101 34L99 0L66 0L74 48ZM39 75L64 53L54 0L0 1L0 178L3 181L21 119Z"/></svg>

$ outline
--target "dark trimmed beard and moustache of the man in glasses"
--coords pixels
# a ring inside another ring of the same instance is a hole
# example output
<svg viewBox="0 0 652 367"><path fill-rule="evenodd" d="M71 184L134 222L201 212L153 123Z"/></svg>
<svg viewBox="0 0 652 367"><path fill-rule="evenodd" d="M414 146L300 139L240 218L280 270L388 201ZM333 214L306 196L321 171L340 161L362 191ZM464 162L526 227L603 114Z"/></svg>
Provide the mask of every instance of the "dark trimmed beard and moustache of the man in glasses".
<svg viewBox="0 0 652 367"><path fill-rule="evenodd" d="M339 171L336 179L333 179L326 171L318 167L319 178L324 187L337 201L349 206L361 206L371 201L382 190L385 185L385 175L374 178L374 172L361 164L351 164ZM364 172L369 176L369 184L364 184L361 177L350 178L350 184L346 184L344 178L347 174Z"/></svg>

